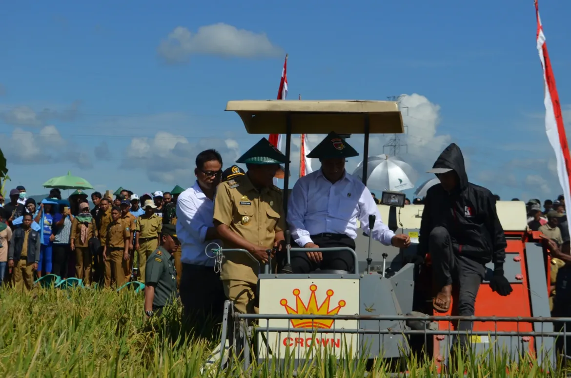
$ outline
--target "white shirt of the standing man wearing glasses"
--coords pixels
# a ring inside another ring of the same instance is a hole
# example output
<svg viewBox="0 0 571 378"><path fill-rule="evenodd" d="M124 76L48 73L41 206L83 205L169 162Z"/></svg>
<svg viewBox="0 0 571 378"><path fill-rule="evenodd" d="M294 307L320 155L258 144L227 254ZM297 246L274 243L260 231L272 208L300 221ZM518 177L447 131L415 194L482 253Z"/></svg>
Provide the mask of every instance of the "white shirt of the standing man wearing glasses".
<svg viewBox="0 0 571 378"><path fill-rule="evenodd" d="M198 182L183 191L176 200L176 236L180 240L180 262L214 267L215 259L206 255L206 247L220 240L205 240L208 227L214 227L214 202L202 191ZM211 249L215 246L211 246ZM208 255L213 256L211 251Z"/></svg>

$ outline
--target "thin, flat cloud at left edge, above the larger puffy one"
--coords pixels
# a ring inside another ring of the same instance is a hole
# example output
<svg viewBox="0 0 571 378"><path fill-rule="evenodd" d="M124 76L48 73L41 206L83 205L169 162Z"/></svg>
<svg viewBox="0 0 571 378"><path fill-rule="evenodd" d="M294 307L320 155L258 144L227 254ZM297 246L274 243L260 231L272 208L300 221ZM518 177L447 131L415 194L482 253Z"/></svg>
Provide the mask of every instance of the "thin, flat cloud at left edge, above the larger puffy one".
<svg viewBox="0 0 571 378"><path fill-rule="evenodd" d="M75 101L64 110L43 108L41 111L35 111L29 106L16 106L2 112L0 119L14 126L43 126L51 120L69 122L77 118L80 105L80 101Z"/></svg>

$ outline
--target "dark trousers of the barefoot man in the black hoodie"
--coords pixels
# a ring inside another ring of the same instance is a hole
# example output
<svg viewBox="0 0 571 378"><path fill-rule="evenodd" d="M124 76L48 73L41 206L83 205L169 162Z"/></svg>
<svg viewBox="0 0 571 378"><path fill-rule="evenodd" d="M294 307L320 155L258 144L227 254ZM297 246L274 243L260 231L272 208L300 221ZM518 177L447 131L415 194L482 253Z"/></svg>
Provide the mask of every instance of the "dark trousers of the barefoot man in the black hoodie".
<svg viewBox="0 0 571 378"><path fill-rule="evenodd" d="M476 295L480 284L484 280L486 267L476 262L452 247L448 230L444 227L435 227L429 236L429 251L432 258L433 279L439 289L445 285L458 286L458 315L474 315ZM458 331L471 331L471 321L460 321ZM456 339L456 338L455 338ZM466 336L460 336L460 345L465 346Z"/></svg>

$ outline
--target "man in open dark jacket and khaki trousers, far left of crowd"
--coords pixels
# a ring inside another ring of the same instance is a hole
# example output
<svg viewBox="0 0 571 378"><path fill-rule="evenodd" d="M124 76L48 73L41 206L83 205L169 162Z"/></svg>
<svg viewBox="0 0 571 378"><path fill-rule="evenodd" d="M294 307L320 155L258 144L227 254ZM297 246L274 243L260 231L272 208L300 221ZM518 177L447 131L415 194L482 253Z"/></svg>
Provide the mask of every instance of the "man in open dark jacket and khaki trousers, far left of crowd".
<svg viewBox="0 0 571 378"><path fill-rule="evenodd" d="M34 271L38 270L41 236L31 229L32 215L24 214L22 227L12 232L8 250L8 267L13 269L12 280L18 291L29 292L34 285Z"/></svg>

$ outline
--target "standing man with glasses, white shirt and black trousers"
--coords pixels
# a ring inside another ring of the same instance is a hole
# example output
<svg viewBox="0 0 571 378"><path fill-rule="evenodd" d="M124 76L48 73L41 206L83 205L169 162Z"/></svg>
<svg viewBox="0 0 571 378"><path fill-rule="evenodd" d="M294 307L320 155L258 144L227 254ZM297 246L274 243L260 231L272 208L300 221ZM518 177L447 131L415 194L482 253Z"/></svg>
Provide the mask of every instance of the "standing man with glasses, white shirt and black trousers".
<svg viewBox="0 0 571 378"><path fill-rule="evenodd" d="M184 315L196 325L209 316L222 319L224 289L220 274L214 271L215 259L209 258L208 244L222 245L214 227L214 194L222 175L222 157L215 150L196 156L195 184L176 200L176 235L181 244L182 276L180 300ZM211 246L212 248L212 246Z"/></svg>

